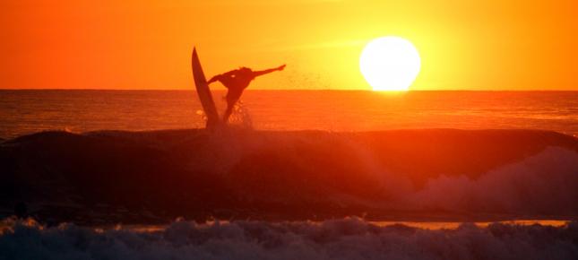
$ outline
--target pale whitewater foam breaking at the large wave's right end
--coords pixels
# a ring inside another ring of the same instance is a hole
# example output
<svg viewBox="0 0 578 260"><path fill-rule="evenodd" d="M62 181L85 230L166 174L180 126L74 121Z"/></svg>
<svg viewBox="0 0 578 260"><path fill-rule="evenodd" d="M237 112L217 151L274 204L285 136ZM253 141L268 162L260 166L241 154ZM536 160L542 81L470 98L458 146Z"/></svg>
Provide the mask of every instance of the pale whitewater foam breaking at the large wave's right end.
<svg viewBox="0 0 578 260"><path fill-rule="evenodd" d="M411 195L421 208L463 212L572 215L578 202L578 152L548 147L529 158L489 170L479 178L430 179Z"/></svg>

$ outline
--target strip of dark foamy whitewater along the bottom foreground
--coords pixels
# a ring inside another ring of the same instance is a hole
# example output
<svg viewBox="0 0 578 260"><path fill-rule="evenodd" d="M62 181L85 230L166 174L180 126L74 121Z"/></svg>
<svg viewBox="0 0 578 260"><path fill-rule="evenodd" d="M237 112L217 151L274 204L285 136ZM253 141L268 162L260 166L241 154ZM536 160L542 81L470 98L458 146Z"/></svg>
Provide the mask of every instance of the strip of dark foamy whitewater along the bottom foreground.
<svg viewBox="0 0 578 260"><path fill-rule="evenodd" d="M2 259L445 259L578 258L578 226L493 223L453 230L334 221L176 221L166 229L94 230L4 221Z"/></svg>

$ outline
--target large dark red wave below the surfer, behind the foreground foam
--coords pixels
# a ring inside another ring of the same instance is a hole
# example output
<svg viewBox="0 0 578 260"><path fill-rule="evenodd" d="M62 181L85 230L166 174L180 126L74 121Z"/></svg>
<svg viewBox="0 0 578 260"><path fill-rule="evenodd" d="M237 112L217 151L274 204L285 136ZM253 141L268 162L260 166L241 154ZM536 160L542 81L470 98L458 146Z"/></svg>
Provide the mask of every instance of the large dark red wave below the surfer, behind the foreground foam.
<svg viewBox="0 0 578 260"><path fill-rule="evenodd" d="M531 130L45 132L0 146L40 220L488 221L578 216L578 141Z"/></svg>

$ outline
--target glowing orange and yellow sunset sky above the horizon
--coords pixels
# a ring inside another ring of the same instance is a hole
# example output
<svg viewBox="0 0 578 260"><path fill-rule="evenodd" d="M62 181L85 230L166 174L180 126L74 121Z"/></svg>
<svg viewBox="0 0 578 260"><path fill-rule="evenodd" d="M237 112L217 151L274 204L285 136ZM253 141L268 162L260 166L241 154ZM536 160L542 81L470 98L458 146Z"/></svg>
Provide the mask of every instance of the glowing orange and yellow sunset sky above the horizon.
<svg viewBox="0 0 578 260"><path fill-rule="evenodd" d="M207 76L288 64L254 89L367 90L361 49L395 35L414 90L578 90L577 3L3 1L0 88L192 89L197 46Z"/></svg>

